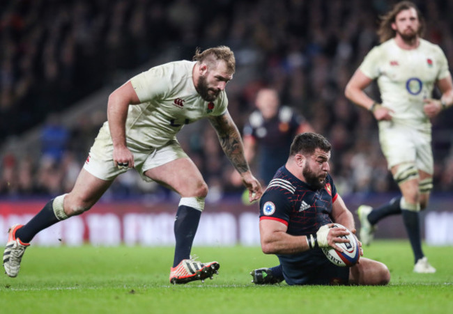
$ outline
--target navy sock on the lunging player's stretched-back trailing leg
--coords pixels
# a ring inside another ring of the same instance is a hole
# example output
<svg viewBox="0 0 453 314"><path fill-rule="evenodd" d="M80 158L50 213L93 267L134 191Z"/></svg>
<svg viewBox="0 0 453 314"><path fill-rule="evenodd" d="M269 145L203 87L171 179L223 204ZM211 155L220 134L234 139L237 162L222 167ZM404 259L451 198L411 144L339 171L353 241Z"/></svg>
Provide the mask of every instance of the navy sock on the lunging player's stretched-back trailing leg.
<svg viewBox="0 0 453 314"><path fill-rule="evenodd" d="M52 207L53 203L54 199L50 200L35 217L22 228L17 229L16 237L22 242L29 243L40 230L59 222L59 219L55 216L54 208Z"/></svg>

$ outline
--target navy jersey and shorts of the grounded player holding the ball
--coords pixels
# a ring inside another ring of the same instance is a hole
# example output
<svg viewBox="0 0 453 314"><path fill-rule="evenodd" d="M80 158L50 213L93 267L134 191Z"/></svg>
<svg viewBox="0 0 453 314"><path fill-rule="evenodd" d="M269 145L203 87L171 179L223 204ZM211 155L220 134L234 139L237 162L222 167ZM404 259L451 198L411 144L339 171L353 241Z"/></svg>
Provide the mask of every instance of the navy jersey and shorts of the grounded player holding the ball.
<svg viewBox="0 0 453 314"><path fill-rule="evenodd" d="M316 233L321 226L332 223L332 204L337 196L330 175L323 189L314 190L282 166L261 196L260 220L280 221L288 226L286 233L290 235ZM337 278L337 272L344 272L341 278L347 282L349 270L333 265L320 248L294 254L277 254L277 257L289 285L330 283ZM333 275L326 269L335 273L335 278L330 278Z"/></svg>

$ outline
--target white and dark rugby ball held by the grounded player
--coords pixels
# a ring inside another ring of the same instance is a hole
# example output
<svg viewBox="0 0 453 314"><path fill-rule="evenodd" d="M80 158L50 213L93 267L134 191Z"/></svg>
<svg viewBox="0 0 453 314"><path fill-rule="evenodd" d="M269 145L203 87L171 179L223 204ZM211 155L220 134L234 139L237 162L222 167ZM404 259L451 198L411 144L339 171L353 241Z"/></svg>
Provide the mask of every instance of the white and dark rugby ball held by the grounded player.
<svg viewBox="0 0 453 314"><path fill-rule="evenodd" d="M346 228L339 223L334 223L334 226L332 226L332 228L339 227ZM348 228L346 228L346 230L348 230ZM341 235L341 237L349 240L349 242L337 243L337 246L344 250L343 252L339 252L331 246L321 248L325 257L328 258L330 262L340 267L354 266L360 257L360 247L357 238L353 235L353 233L351 233L351 230L348 231L348 235Z"/></svg>

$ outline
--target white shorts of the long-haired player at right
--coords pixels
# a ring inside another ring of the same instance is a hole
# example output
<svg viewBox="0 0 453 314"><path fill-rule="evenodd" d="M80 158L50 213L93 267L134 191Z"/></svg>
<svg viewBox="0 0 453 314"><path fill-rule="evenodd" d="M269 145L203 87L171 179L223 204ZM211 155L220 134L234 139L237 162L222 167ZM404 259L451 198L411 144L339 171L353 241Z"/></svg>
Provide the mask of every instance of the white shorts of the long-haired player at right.
<svg viewBox="0 0 453 314"><path fill-rule="evenodd" d="M379 142L389 169L397 164L413 162L418 170L433 174L431 132L381 121Z"/></svg>

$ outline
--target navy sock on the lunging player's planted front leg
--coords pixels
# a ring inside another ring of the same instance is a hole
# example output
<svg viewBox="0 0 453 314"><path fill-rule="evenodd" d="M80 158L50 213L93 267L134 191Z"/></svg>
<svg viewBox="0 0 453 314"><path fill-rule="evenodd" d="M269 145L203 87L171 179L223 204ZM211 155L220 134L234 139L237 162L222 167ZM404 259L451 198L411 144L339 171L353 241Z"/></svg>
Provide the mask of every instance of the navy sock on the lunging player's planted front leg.
<svg viewBox="0 0 453 314"><path fill-rule="evenodd" d="M176 212L174 233L176 238L175 257L173 267L186 258L190 258L190 250L197 233L198 223L201 217L201 210L181 205Z"/></svg>

